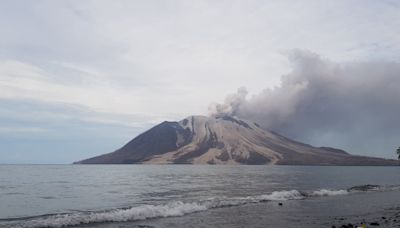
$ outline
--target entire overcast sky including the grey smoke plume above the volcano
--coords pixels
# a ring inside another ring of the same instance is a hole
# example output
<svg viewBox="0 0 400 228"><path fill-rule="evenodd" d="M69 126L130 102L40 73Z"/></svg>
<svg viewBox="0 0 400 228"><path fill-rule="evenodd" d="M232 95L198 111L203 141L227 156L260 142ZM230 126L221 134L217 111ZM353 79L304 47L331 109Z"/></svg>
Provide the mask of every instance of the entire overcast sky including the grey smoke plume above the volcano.
<svg viewBox="0 0 400 228"><path fill-rule="evenodd" d="M0 31L0 163L110 152L238 88L238 116L298 140L400 144L397 1L5 0Z"/></svg>

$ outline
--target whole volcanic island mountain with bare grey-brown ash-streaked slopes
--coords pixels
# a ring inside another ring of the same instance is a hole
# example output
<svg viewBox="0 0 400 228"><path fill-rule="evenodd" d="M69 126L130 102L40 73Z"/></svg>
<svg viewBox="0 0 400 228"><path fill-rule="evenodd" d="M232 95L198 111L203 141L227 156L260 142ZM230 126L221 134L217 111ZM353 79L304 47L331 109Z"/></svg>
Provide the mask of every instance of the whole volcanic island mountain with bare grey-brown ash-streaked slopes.
<svg viewBox="0 0 400 228"><path fill-rule="evenodd" d="M75 164L397 165L397 161L313 147L236 117L163 122L122 148Z"/></svg>

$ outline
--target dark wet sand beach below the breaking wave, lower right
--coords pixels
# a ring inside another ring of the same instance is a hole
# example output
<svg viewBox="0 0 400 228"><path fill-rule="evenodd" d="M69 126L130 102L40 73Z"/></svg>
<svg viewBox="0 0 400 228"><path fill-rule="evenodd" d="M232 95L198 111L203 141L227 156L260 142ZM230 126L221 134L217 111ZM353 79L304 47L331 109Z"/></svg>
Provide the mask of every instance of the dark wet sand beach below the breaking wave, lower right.
<svg viewBox="0 0 400 228"><path fill-rule="evenodd" d="M211 209L204 212L149 219L106 223L84 227L400 227L400 191L368 192L305 200L263 202ZM375 225L374 225L375 224ZM376 226L379 224L379 226ZM351 227L351 226L347 226Z"/></svg>

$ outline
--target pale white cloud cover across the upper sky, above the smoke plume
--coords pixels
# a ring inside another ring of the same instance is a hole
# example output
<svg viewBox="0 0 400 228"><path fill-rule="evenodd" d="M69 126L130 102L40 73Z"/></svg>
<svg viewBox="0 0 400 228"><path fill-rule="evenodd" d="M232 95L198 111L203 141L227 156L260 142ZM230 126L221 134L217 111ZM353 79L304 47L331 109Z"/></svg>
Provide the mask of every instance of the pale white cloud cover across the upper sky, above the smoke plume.
<svg viewBox="0 0 400 228"><path fill-rule="evenodd" d="M241 86L280 86L282 52L400 59L394 1L2 1L0 98L99 122L207 114ZM284 98L282 98L284 100ZM282 101L283 102L283 101ZM56 115L55 113L53 113Z"/></svg>

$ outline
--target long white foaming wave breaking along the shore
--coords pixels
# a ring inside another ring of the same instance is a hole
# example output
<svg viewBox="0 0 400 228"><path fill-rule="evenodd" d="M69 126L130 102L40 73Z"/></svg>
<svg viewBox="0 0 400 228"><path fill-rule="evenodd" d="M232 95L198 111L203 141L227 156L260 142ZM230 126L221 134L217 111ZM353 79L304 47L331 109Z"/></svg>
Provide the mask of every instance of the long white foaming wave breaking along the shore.
<svg viewBox="0 0 400 228"><path fill-rule="evenodd" d="M183 216L195 212L206 211L214 208L239 206L250 203L266 201L302 200L309 197L328 197L346 195L360 191L377 191L377 185L354 186L347 190L319 189L311 192L298 190L275 191L270 194L247 196L247 197L213 197L196 202L175 201L162 205L141 205L131 208L120 208L98 212L75 212L68 214L43 215L33 218L11 219L0 226L15 228L38 228L38 227L68 227L93 223L127 222L139 221L151 218ZM385 188L386 189L386 188ZM393 189L393 188L391 188Z"/></svg>

